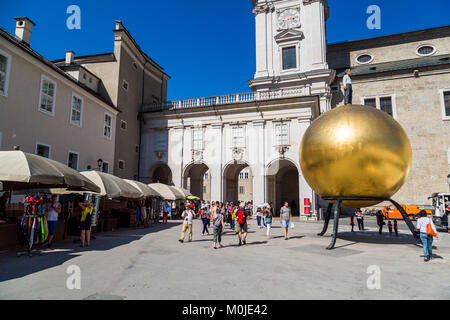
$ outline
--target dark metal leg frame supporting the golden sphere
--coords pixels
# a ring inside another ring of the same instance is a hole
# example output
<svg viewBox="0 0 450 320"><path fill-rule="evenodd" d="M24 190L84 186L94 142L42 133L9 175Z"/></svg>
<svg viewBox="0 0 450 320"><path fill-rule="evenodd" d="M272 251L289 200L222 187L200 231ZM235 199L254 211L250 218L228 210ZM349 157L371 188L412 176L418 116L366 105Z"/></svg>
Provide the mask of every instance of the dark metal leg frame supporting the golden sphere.
<svg viewBox="0 0 450 320"><path fill-rule="evenodd" d="M336 208L334 209L334 222L333 222L333 233L331 234L331 242L327 247L327 250L331 250L334 248L334 245L336 244L337 234L338 234L338 228L339 228L339 216L341 214L341 206L343 201L389 201L391 202L398 211L400 211L403 220L405 221L406 225L408 226L409 230L411 231L414 238L419 238L418 233L415 231L414 224L411 222L411 219L403 209L401 205L399 205L397 202L395 202L392 199L385 199L385 198L371 198L371 197L323 197L323 200L326 201L336 201ZM325 232L327 232L328 224L330 222L331 218L331 209L333 207L333 203L328 204L327 212L325 214L325 221L323 224L322 232L318 233L318 236L323 236Z"/></svg>

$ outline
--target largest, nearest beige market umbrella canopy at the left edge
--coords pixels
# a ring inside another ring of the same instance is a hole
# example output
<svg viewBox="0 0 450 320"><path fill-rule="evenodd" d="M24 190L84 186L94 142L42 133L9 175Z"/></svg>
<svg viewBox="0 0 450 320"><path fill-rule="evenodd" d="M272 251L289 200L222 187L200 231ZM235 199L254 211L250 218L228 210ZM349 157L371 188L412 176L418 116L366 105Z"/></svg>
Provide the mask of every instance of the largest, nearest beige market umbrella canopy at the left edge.
<svg viewBox="0 0 450 320"><path fill-rule="evenodd" d="M19 150L0 151L0 182L4 190L66 188L100 192L96 184L76 170Z"/></svg>

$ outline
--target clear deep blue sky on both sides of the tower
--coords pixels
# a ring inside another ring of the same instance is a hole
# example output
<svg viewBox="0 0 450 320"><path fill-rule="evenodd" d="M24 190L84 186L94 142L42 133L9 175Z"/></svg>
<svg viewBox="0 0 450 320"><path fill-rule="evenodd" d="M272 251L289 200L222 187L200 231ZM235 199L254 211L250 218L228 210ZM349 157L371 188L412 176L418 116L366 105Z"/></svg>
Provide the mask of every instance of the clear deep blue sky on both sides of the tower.
<svg viewBox="0 0 450 320"><path fill-rule="evenodd" d="M450 24L449 0L329 0L329 43ZM66 27L69 5L81 8L81 30ZM381 29L366 27L367 7L381 8ZM141 48L172 79L168 99L248 92L255 72L250 0L1 0L0 26L14 33L15 16L36 23L31 46L55 60L113 51L114 21L122 20Z"/></svg>

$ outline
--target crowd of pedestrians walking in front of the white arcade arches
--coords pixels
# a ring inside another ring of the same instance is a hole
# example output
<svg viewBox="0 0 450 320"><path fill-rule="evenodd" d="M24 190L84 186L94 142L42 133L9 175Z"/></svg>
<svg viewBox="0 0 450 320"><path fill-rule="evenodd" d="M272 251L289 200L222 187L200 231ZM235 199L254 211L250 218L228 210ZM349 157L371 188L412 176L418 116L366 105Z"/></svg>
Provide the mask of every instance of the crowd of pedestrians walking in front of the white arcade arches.
<svg viewBox="0 0 450 320"><path fill-rule="evenodd" d="M211 204L203 204L199 210L199 215L202 220L203 229L202 236L209 235L209 228L213 229L213 248L217 249L222 247L222 234L225 231L225 226L229 226L232 232L238 235L238 246L245 245L247 243L248 235L248 219L252 216L253 204L251 202L241 203L222 203L213 201ZM256 219L258 228L261 228L261 221L264 221L266 227L267 239L270 239L270 230L273 223L273 206L267 205L264 208L257 208ZM195 218L195 211L191 208L189 203L185 205L185 210L181 214L183 219L183 226L181 229L181 236L178 239L183 243L188 233L188 241L192 241L192 224ZM293 227L292 210L289 207L288 202L285 202L280 209L280 224L284 229L284 239L288 239L289 227Z"/></svg>

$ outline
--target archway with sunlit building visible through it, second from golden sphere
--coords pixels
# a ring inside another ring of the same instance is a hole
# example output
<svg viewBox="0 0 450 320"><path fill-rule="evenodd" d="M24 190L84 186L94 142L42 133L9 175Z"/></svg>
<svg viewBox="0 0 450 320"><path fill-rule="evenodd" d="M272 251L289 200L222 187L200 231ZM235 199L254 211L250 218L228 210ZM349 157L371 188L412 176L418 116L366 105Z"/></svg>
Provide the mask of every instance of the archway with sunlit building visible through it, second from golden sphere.
<svg viewBox="0 0 450 320"><path fill-rule="evenodd" d="M223 171L223 201L253 200L253 175L247 163L233 162Z"/></svg>

